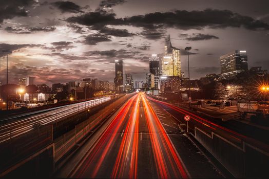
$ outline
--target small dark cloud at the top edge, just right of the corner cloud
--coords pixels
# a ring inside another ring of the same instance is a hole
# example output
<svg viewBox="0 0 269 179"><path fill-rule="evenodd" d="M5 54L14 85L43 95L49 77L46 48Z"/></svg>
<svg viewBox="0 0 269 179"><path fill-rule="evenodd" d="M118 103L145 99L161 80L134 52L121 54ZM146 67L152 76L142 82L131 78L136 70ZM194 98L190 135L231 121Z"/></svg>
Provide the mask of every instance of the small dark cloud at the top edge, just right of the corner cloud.
<svg viewBox="0 0 269 179"><path fill-rule="evenodd" d="M51 5L58 8L61 12L73 12L73 13L83 12L81 10L82 8L79 5L76 5L70 1L57 1L51 3Z"/></svg>

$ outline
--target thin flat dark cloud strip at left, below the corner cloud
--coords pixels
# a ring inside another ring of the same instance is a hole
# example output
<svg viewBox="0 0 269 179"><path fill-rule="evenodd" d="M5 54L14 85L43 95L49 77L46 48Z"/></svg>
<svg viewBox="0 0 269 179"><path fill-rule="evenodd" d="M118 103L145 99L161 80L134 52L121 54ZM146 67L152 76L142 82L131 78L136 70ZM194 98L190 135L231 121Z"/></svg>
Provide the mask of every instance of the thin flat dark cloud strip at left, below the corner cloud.
<svg viewBox="0 0 269 179"><path fill-rule="evenodd" d="M50 32L54 31L55 27L6 27L5 30L9 33L30 34L35 32Z"/></svg>

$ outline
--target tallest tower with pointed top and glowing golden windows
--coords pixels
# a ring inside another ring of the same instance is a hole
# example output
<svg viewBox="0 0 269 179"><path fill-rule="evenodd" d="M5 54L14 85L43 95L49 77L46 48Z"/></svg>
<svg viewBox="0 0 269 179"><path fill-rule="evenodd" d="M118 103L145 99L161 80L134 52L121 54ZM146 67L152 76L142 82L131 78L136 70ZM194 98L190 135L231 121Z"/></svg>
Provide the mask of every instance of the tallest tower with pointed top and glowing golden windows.
<svg viewBox="0 0 269 179"><path fill-rule="evenodd" d="M172 47L170 35L164 40L164 56L162 57L162 75L181 77L180 49Z"/></svg>

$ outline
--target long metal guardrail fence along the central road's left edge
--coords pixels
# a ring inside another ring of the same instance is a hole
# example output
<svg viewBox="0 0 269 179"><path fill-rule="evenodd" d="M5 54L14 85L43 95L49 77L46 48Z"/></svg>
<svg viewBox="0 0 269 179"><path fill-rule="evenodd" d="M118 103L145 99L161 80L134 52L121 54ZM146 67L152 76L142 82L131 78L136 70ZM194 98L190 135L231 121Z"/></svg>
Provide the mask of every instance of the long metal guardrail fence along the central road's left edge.
<svg viewBox="0 0 269 179"><path fill-rule="evenodd" d="M75 126L74 129L65 133L63 136L54 140L54 162L59 161L70 149L75 146L82 138L88 135L90 131L96 128L107 116L109 116L114 109L119 107L131 95L125 95L117 101L111 103L104 109L100 110L97 114L91 116L86 121Z"/></svg>

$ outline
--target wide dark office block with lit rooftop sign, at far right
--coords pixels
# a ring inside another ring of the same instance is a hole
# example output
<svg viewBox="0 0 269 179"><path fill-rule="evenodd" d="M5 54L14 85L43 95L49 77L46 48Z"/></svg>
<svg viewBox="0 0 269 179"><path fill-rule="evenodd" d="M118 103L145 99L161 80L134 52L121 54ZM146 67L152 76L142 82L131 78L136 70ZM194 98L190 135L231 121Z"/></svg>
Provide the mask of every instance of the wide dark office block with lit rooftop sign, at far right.
<svg viewBox="0 0 269 179"><path fill-rule="evenodd" d="M238 73L247 71L247 53L235 50L220 57L221 79L236 78Z"/></svg>

